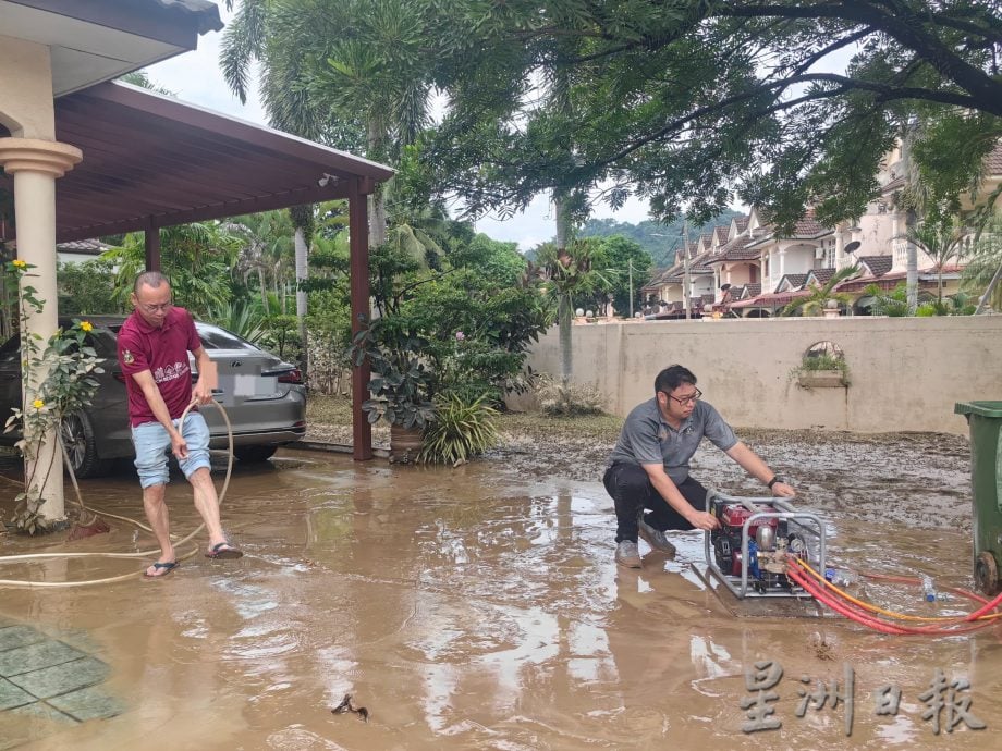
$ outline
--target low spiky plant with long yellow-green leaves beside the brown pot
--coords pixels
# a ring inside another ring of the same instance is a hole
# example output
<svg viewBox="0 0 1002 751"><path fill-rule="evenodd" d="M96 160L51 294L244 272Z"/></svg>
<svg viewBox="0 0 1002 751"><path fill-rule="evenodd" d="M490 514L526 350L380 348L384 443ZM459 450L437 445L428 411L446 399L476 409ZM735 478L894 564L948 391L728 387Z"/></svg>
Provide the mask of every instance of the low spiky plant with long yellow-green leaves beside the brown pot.
<svg viewBox="0 0 1002 751"><path fill-rule="evenodd" d="M498 411L486 395L474 399L451 393L435 403L435 422L425 428L417 460L457 467L498 442Z"/></svg>

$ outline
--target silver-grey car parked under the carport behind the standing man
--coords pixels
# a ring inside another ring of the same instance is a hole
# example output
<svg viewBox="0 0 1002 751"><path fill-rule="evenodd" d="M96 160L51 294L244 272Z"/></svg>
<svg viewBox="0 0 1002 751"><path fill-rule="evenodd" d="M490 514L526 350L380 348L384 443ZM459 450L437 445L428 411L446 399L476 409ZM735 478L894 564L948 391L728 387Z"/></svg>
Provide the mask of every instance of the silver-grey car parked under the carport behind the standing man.
<svg viewBox="0 0 1002 751"><path fill-rule="evenodd" d="M94 403L63 420L62 438L77 477L106 473L115 459L135 456L129 428L125 376L119 368L115 337L124 316L81 316L94 324L88 334L105 372ZM70 321L60 321L69 325ZM195 321L206 353L219 368L216 401L233 429L233 454L241 461L265 461L280 445L306 434L306 386L300 370L250 342L210 323ZM193 380L197 379L192 359ZM21 342L15 335L0 347L0 427L21 406ZM200 408L211 432L212 448L225 448L227 426L220 410ZM0 434L12 446L20 432Z"/></svg>

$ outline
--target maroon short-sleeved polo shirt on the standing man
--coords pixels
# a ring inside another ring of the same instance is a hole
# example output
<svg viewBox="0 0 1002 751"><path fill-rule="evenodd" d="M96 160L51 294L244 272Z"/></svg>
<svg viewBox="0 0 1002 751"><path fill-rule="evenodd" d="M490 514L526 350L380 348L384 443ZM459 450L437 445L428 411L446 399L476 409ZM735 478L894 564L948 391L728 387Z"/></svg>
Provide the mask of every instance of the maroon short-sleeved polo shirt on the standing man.
<svg viewBox="0 0 1002 751"><path fill-rule="evenodd" d="M201 340L195 331L195 322L184 308L171 308L159 329L147 323L135 310L125 319L119 331L119 365L125 374L129 420L133 428L157 422L133 374L144 370L152 374L171 419L176 420L192 403L192 368L187 354L199 347Z"/></svg>

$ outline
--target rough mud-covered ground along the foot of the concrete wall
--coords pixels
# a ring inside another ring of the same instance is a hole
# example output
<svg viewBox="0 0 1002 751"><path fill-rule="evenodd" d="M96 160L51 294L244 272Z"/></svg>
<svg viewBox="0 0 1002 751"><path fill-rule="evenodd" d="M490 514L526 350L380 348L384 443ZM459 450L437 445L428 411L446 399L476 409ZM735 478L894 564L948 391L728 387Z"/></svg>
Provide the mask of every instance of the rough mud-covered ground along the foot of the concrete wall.
<svg viewBox="0 0 1002 751"><path fill-rule="evenodd" d="M343 399L314 398L307 438L351 443ZM612 416L548 418L502 415L500 445L485 456L520 475L601 480L622 419ZM812 508L852 520L899 518L919 529L970 530L970 448L966 436L942 433L857 434L811 430L737 430ZM387 446L377 427L374 443ZM756 494L755 480L705 442L693 476L731 494Z"/></svg>

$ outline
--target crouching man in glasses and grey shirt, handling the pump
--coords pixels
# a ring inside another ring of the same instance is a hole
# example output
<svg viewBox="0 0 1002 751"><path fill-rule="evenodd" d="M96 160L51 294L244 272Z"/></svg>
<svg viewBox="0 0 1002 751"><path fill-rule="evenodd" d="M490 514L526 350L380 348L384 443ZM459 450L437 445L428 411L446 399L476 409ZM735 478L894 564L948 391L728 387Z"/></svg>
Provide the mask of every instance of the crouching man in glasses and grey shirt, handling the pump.
<svg viewBox="0 0 1002 751"><path fill-rule="evenodd" d="M673 365L655 379L655 397L633 408L609 457L602 483L615 502L615 559L640 568L637 537L655 550L674 553L668 529L716 529L706 510L706 488L689 473L689 459L704 438L767 485L773 495L796 491L737 440L706 402L687 368ZM649 509L646 516L644 509Z"/></svg>

